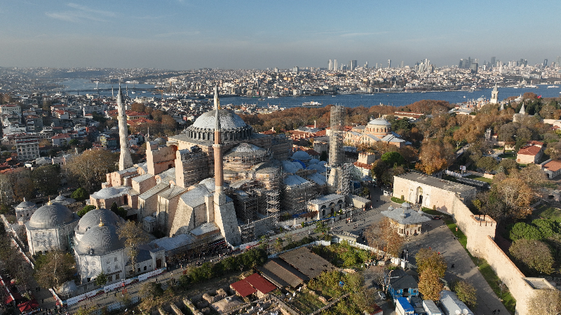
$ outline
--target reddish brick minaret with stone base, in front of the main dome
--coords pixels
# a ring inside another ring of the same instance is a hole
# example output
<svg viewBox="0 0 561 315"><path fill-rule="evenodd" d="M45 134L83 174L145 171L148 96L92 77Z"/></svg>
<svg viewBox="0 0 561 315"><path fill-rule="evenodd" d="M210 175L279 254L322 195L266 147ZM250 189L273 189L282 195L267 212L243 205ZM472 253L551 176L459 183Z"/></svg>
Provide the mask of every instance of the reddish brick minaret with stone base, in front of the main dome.
<svg viewBox="0 0 561 315"><path fill-rule="evenodd" d="M224 175L222 163L222 144L220 127L220 101L218 99L218 86L215 86L215 144L212 148L215 153L215 196L214 196L214 221L220 234L231 245L241 244L241 232L236 218L234 202L228 200L224 193Z"/></svg>

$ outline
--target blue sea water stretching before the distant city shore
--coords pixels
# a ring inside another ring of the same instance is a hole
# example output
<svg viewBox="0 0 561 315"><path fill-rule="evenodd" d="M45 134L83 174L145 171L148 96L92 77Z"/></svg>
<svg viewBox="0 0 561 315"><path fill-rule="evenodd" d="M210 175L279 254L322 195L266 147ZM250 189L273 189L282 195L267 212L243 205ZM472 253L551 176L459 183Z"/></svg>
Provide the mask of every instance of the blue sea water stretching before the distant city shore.
<svg viewBox="0 0 561 315"><path fill-rule="evenodd" d="M95 92L95 83L91 83L90 80L86 79L72 79L61 82L65 85L65 90L88 90L88 92L81 92L81 94L93 94ZM100 89L110 89L114 87L115 93L119 88L119 85L111 85L106 83L100 83ZM131 98L146 96L154 96L151 91L143 90L154 88L151 84L135 84L133 85L123 85L121 84L123 92L126 92L128 88L128 96ZM323 106L329 104L337 104L346 107L370 107L374 105L385 105L385 106L405 106L412 104L414 102L421 101L423 99L434 99L450 102L451 104L457 104L462 102L468 102L470 100L477 100L479 98L490 99L492 88L470 91L444 91L444 92L396 92L396 93L374 93L374 94L337 94L335 96L331 95L320 95L320 96L297 96L297 97L278 97L276 99L264 98L263 101L259 101L259 97L222 97L222 104L233 104L233 105L244 105L244 104L256 104L257 106L267 106L267 105L277 105L279 107L297 107L302 106L304 102L319 102ZM134 93L133 93L134 92ZM548 85L538 85L538 88L515 88L515 87L499 87L499 99L506 99L507 97L518 97L525 92L532 92L541 97L561 97L561 87L548 88ZM77 94L76 92L69 92L70 94ZM111 95L111 90L100 91L102 95ZM156 97L160 97L160 94L156 94ZM172 97L166 96L164 98Z"/></svg>

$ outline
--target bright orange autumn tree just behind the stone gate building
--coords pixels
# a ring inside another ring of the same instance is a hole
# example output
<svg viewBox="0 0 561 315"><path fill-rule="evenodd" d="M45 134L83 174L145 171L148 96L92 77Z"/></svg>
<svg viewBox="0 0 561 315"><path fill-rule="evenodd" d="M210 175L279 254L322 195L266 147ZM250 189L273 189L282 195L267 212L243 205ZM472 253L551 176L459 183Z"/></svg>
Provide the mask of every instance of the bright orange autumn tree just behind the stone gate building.
<svg viewBox="0 0 561 315"><path fill-rule="evenodd" d="M421 144L421 153L415 167L426 174L434 174L452 165L455 154L454 148L449 143L440 140L425 140Z"/></svg>

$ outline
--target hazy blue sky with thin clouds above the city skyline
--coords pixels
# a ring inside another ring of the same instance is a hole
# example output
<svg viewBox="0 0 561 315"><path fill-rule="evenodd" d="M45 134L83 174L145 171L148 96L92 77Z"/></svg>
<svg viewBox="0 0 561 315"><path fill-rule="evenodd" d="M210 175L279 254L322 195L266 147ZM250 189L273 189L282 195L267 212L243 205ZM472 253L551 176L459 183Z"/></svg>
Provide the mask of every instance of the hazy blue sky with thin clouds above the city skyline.
<svg viewBox="0 0 561 315"><path fill-rule="evenodd" d="M561 1L0 1L0 66L436 66L561 55Z"/></svg>

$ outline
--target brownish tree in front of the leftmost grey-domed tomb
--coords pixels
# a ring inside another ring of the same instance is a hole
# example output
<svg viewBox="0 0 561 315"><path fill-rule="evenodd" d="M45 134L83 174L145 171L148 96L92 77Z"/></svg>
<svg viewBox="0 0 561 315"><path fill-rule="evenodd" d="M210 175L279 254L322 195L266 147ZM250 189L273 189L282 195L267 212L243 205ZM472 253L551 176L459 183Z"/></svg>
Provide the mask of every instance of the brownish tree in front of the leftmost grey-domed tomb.
<svg viewBox="0 0 561 315"><path fill-rule="evenodd" d="M35 279L43 288L58 288L76 273L74 257L58 249L39 255L36 259Z"/></svg>

